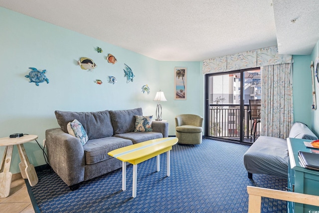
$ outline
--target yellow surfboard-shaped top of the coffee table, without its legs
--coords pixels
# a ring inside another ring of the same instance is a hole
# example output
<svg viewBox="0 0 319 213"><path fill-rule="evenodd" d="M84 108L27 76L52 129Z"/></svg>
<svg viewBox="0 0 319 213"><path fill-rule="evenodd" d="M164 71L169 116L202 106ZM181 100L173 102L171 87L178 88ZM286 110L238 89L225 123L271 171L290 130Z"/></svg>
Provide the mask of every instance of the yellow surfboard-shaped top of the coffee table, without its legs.
<svg viewBox="0 0 319 213"><path fill-rule="evenodd" d="M117 158L123 162L134 161L143 158L152 153L156 153L167 147L171 147L178 142L176 137L159 138L133 144L127 147L119 148L108 153L108 155Z"/></svg>

